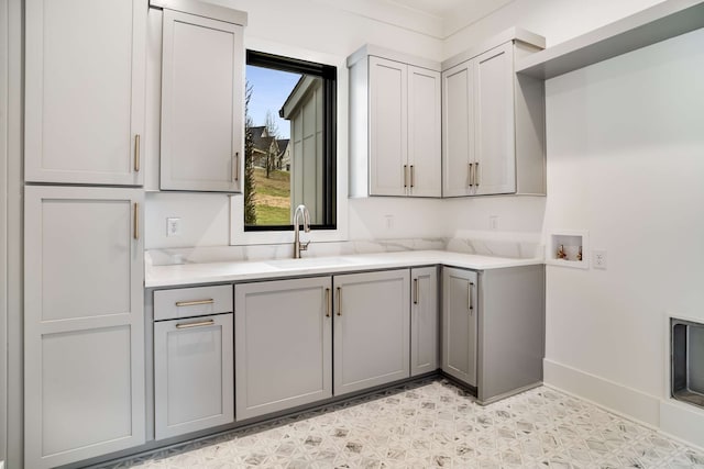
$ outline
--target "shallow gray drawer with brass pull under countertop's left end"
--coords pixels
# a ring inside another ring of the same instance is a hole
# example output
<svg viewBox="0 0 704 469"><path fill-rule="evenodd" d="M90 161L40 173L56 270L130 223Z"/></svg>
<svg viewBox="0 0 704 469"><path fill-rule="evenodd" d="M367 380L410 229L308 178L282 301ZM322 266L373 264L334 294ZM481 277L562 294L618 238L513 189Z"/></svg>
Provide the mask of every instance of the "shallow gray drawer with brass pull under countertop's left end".
<svg viewBox="0 0 704 469"><path fill-rule="evenodd" d="M231 312L231 284L157 290L154 292L154 321Z"/></svg>

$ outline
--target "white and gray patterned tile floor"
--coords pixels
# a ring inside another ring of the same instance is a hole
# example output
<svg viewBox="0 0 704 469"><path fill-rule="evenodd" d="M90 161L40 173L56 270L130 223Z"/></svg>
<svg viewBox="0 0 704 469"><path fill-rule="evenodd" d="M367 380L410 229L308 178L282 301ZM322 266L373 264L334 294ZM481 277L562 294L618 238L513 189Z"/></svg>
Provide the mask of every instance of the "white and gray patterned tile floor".
<svg viewBox="0 0 704 469"><path fill-rule="evenodd" d="M704 454L550 388L481 406L429 380L110 466L130 467L704 469Z"/></svg>

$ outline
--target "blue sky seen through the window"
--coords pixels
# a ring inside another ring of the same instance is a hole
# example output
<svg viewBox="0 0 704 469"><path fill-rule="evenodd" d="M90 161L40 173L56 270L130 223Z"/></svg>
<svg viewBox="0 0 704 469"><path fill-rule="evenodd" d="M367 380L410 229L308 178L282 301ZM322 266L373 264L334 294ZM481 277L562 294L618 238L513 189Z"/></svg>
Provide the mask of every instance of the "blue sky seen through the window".
<svg viewBox="0 0 704 469"><path fill-rule="evenodd" d="M278 138L290 138L290 121L280 119L278 110L286 102L286 98L299 78L299 74L246 66L246 81L252 87L249 111L255 126L265 124L268 110L276 118Z"/></svg>

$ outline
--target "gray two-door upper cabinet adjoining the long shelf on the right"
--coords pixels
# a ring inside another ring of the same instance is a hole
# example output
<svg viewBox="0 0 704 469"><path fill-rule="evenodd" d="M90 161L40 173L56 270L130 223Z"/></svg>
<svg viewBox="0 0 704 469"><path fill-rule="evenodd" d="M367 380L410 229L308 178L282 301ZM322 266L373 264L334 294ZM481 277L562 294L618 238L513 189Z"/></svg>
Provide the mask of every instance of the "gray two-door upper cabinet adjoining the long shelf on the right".
<svg viewBox="0 0 704 469"><path fill-rule="evenodd" d="M443 197L544 194L544 85L514 72L536 51L512 40L443 63Z"/></svg>

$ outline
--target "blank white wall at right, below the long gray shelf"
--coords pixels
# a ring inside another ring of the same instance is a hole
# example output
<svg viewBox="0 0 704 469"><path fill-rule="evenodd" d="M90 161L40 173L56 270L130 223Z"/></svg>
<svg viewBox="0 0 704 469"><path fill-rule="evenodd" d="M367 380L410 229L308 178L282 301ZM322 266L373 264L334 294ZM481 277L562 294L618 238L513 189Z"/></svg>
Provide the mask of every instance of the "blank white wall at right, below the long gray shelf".
<svg viewBox="0 0 704 469"><path fill-rule="evenodd" d="M666 315L704 320L702 44L700 30L547 82L546 230L586 228L608 253L605 271L548 267L547 358L653 399ZM658 406L637 416L658 424Z"/></svg>

